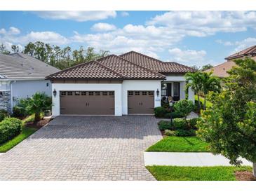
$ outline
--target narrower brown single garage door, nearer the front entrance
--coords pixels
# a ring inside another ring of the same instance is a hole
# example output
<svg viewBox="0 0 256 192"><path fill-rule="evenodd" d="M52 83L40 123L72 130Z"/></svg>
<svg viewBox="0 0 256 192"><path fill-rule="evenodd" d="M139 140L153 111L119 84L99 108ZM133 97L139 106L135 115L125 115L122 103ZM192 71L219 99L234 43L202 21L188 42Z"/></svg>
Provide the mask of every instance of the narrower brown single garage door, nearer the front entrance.
<svg viewBox="0 0 256 192"><path fill-rule="evenodd" d="M128 90L128 114L154 114L154 91Z"/></svg>

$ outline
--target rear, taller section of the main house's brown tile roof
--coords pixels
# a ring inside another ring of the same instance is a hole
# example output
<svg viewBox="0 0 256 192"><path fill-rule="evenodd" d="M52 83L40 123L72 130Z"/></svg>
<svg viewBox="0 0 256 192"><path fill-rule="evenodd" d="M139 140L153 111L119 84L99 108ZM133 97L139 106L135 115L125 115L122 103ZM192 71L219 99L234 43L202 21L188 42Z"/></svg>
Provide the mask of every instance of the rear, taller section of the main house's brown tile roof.
<svg viewBox="0 0 256 192"><path fill-rule="evenodd" d="M124 53L123 55L120 55L120 57L162 74L185 74L187 72L195 71L195 69L183 64L179 64L177 62L162 62L161 60L156 60L153 57L149 57L135 51Z"/></svg>

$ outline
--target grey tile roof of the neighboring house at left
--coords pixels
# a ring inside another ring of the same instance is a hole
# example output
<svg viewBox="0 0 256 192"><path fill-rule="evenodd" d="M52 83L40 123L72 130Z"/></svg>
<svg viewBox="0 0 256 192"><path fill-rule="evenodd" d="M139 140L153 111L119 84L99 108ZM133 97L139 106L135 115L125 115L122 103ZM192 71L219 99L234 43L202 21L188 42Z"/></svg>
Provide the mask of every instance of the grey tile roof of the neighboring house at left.
<svg viewBox="0 0 256 192"><path fill-rule="evenodd" d="M0 79L44 79L57 71L60 70L26 54L0 54Z"/></svg>

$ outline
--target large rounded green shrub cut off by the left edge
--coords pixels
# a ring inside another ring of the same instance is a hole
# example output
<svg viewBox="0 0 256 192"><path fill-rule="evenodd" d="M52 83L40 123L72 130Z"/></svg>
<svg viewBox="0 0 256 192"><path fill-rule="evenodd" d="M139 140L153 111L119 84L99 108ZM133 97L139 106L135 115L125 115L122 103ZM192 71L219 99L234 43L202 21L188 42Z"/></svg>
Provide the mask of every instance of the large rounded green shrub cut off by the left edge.
<svg viewBox="0 0 256 192"><path fill-rule="evenodd" d="M0 143L7 142L21 132L22 121L18 118L5 118L0 123Z"/></svg>

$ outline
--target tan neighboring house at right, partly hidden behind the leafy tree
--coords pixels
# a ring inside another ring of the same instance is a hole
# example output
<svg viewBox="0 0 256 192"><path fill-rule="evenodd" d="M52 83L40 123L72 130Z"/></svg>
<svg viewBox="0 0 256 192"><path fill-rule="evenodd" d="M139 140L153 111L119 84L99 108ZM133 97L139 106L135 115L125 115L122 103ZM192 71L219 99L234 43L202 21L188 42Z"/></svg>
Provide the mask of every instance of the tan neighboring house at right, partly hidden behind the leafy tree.
<svg viewBox="0 0 256 192"><path fill-rule="evenodd" d="M227 62L219 64L211 69L207 69L206 72L213 71L213 75L215 76L218 76L220 78L227 77L229 76L227 71L229 71L232 67L236 66L234 60L243 59L244 57L250 57L256 61L256 45L251 46L250 48L246 48L245 50L241 50L238 53L234 53L229 57L226 57L225 60L227 60Z"/></svg>

